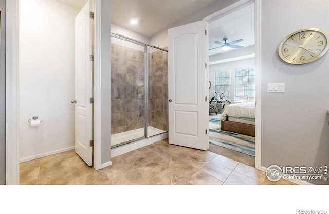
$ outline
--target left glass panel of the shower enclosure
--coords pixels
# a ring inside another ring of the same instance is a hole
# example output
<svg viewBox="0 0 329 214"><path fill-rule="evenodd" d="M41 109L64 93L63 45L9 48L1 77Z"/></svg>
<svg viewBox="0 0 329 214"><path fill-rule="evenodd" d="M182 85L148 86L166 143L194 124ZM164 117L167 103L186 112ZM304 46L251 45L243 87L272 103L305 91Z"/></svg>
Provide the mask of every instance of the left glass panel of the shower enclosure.
<svg viewBox="0 0 329 214"><path fill-rule="evenodd" d="M111 39L112 146L145 137L145 45Z"/></svg>

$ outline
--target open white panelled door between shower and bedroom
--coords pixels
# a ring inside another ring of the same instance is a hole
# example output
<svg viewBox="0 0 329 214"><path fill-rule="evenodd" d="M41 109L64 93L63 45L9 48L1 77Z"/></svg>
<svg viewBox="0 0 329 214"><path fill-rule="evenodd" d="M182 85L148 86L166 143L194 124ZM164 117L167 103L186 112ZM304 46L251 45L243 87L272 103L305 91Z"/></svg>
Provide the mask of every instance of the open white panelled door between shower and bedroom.
<svg viewBox="0 0 329 214"><path fill-rule="evenodd" d="M208 24L168 30L169 143L209 148Z"/></svg>

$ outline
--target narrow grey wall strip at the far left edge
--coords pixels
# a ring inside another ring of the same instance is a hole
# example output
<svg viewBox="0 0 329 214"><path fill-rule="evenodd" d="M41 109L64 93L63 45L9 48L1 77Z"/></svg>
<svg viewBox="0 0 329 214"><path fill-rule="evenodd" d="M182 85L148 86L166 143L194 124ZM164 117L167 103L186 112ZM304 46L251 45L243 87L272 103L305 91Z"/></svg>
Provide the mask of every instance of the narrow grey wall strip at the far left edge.
<svg viewBox="0 0 329 214"><path fill-rule="evenodd" d="M0 0L0 185L6 184L6 88L5 88L5 0Z"/></svg>

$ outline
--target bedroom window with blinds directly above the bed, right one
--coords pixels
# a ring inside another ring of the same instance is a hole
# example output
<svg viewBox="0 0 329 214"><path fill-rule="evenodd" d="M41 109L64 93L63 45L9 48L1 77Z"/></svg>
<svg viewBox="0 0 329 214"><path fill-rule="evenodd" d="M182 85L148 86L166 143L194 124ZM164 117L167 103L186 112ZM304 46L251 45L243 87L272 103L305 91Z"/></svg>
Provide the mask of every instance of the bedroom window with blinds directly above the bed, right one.
<svg viewBox="0 0 329 214"><path fill-rule="evenodd" d="M255 67L235 68L235 98L237 102L255 101Z"/></svg>

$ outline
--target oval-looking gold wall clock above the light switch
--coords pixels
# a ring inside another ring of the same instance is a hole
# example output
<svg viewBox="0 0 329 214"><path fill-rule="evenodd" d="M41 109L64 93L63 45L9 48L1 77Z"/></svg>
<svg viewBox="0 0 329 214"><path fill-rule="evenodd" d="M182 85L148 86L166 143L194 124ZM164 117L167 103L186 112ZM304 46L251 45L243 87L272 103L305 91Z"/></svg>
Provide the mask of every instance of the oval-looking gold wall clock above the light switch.
<svg viewBox="0 0 329 214"><path fill-rule="evenodd" d="M280 58L290 64L305 64L322 57L329 49L327 33L318 28L295 31L279 45Z"/></svg>

